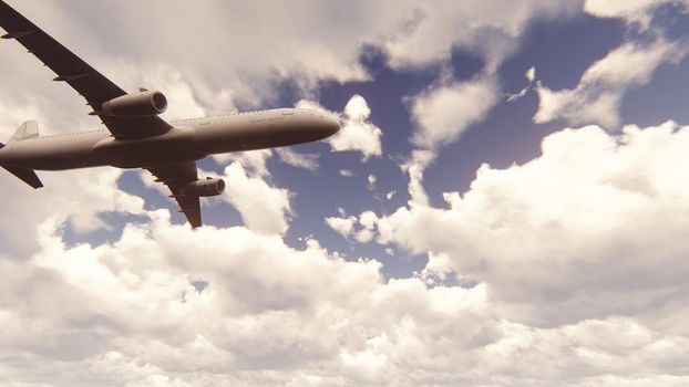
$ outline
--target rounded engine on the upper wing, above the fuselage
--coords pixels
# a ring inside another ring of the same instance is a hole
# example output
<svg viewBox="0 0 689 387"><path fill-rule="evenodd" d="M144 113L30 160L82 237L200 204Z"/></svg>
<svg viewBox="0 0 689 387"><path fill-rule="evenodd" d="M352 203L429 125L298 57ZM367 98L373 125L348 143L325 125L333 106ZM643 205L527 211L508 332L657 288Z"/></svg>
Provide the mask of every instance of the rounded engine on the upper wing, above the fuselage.
<svg viewBox="0 0 689 387"><path fill-rule="evenodd" d="M120 117L146 117L165 113L167 98L158 91L126 94L103 103L103 114Z"/></svg>

